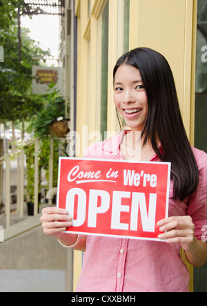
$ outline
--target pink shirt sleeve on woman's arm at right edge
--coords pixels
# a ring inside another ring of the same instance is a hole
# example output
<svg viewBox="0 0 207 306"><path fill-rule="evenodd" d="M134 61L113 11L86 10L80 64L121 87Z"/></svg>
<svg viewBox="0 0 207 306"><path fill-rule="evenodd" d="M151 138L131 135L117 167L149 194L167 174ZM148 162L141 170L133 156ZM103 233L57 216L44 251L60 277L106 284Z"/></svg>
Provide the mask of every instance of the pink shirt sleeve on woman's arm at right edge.
<svg viewBox="0 0 207 306"><path fill-rule="evenodd" d="M187 213L193 218L195 237L202 239L207 227L207 154L201 152L201 155L196 159L199 169L199 184L190 198Z"/></svg>

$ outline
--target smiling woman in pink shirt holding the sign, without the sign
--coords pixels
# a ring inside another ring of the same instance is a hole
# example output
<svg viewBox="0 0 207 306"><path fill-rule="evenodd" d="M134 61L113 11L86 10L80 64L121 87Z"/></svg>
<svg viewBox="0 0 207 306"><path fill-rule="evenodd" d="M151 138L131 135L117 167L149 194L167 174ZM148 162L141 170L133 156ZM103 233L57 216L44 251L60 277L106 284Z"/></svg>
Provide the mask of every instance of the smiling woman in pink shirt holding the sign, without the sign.
<svg viewBox="0 0 207 306"><path fill-rule="evenodd" d="M141 148L139 160L171 162L169 218L157 223L164 231L158 238L166 242L62 233L72 218L59 208L43 209L44 233L86 251L77 291L188 291L179 249L195 267L207 260L201 240L207 224L207 155L190 147L162 55L149 48L127 52L113 75L115 106L130 131L93 144L85 157L135 160Z"/></svg>

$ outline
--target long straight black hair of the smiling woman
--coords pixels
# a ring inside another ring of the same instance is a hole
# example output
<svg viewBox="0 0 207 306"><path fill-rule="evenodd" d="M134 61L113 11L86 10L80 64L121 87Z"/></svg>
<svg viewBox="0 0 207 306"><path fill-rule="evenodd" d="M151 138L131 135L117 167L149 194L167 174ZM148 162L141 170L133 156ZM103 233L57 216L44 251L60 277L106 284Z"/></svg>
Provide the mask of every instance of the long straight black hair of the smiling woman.
<svg viewBox="0 0 207 306"><path fill-rule="evenodd" d="M163 162L171 162L174 198L183 201L197 188L199 173L179 110L177 91L168 61L150 48L136 48L122 55L115 65L113 77L121 64L139 70L148 99L148 116L141 131L144 144L152 148ZM157 137L162 151L159 151Z"/></svg>

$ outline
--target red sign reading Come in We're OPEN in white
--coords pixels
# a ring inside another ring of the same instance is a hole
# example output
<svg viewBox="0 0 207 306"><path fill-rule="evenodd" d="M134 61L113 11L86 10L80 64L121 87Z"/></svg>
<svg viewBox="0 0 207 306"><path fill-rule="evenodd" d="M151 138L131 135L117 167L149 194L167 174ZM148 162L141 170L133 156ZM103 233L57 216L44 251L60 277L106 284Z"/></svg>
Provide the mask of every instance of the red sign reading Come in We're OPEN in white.
<svg viewBox="0 0 207 306"><path fill-rule="evenodd" d="M170 163L59 157L57 207L70 233L159 240L168 217Z"/></svg>

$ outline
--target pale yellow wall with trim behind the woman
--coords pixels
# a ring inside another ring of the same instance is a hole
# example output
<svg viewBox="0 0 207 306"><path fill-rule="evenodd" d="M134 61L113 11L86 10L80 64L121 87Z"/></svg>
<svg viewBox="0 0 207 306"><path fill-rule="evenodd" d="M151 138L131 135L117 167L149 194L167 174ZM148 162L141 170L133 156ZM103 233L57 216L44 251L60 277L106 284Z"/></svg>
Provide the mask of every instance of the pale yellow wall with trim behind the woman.
<svg viewBox="0 0 207 306"><path fill-rule="evenodd" d="M77 132L81 136L77 155L83 155L90 141L97 140L92 132L99 131L100 126L101 13L107 0L90 0L90 6L88 1L75 2L78 17ZM108 1L107 126L108 131L116 131L112 70L123 53L124 0ZM168 59L191 144L194 138L196 21L197 0L130 0L129 50L150 47ZM83 131L83 126L88 128Z"/></svg>

